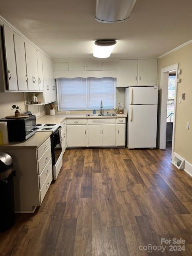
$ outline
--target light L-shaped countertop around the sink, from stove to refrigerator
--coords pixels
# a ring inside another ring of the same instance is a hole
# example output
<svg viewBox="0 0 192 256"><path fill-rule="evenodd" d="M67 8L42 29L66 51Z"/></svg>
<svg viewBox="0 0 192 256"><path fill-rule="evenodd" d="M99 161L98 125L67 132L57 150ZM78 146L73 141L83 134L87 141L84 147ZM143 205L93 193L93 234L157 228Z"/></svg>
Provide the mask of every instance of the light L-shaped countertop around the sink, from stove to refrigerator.
<svg viewBox="0 0 192 256"><path fill-rule="evenodd" d="M125 114L116 114L116 116L86 116L86 114L56 114L54 116L45 115L36 120L37 124L61 124L66 119L94 119L94 118L126 118Z"/></svg>

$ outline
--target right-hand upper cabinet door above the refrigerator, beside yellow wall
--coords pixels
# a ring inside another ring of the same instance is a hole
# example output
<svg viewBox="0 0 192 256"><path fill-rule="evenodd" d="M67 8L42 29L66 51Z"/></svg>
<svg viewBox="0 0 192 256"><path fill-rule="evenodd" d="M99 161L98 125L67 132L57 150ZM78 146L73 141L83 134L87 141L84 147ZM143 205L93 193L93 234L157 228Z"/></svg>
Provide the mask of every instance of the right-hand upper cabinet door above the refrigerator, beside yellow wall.
<svg viewBox="0 0 192 256"><path fill-rule="evenodd" d="M157 84L157 60L138 60L138 85Z"/></svg>

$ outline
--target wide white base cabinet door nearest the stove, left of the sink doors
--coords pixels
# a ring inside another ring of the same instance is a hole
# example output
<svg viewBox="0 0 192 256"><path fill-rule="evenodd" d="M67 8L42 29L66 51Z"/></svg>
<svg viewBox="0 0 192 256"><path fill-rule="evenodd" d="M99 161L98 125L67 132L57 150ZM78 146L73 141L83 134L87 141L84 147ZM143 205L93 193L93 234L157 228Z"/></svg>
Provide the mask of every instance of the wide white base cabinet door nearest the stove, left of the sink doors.
<svg viewBox="0 0 192 256"><path fill-rule="evenodd" d="M87 147L87 125L67 125L67 146Z"/></svg>

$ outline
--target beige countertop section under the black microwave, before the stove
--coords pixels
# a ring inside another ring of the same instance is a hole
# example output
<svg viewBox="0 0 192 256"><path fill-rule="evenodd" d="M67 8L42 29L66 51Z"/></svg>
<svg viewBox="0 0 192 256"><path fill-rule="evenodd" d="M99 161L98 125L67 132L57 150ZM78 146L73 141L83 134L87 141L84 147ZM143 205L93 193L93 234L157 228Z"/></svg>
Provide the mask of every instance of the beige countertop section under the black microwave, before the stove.
<svg viewBox="0 0 192 256"><path fill-rule="evenodd" d="M39 148L46 139L50 137L52 132L36 132L31 138L22 142L10 142L6 145L1 145L0 150L6 148Z"/></svg>

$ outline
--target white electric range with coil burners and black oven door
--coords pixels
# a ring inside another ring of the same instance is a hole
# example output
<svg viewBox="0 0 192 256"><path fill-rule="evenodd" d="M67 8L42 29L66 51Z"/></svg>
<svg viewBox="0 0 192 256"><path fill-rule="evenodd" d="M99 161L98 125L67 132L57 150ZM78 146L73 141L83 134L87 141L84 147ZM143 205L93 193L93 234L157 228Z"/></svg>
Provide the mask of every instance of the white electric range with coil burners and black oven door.
<svg viewBox="0 0 192 256"><path fill-rule="evenodd" d="M63 164L62 154L62 135L60 124L36 124L37 132L52 132L51 139L51 156L53 180L56 180Z"/></svg>

